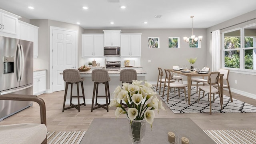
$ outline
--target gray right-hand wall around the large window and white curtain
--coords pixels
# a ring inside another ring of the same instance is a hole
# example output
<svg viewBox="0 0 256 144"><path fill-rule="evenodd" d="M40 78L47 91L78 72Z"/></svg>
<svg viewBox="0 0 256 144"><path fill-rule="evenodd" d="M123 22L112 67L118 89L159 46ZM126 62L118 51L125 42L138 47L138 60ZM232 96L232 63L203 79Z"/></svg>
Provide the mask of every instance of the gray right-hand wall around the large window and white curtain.
<svg viewBox="0 0 256 144"><path fill-rule="evenodd" d="M215 26L212 26L210 28L207 28L207 46L209 46L209 49L206 52L207 55L207 66L211 66L212 65L212 34L211 32L214 30L218 30L218 29L222 29L225 28L223 30L221 30L220 32L224 32L226 30L231 30L234 28L238 28L241 26L246 26L248 24L253 24L256 23L256 20L252 20L249 22L245 22L247 20L253 19L256 16L256 10L246 13L244 15L238 16L236 18L227 20L226 22L217 24ZM238 24L241 22L245 22L242 24ZM238 24L236 26L232 26ZM226 28L228 26L232 26L230 28ZM248 92L250 94L256 94L256 91L254 90L254 85L256 83L256 75L255 73L251 73L251 74L240 74L240 73L236 73L234 71L230 72L229 75L229 83L230 83L230 87L232 89L236 89L236 92L242 91L242 92ZM237 84L235 84L235 80L237 80Z"/></svg>

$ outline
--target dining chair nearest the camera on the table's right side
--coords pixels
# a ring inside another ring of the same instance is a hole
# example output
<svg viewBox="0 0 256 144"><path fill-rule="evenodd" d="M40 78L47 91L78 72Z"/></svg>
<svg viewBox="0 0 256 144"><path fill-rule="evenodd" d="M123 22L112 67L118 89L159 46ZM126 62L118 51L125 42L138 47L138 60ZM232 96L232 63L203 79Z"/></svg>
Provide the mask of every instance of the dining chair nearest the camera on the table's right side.
<svg viewBox="0 0 256 144"><path fill-rule="evenodd" d="M208 76L207 85L199 86L199 92L198 92L198 102L200 100L200 92L203 90L204 92L208 93L208 98L210 98L210 114L212 114L212 94L213 94L213 101L214 101L214 94L218 93L220 96L220 107L222 109L222 99L220 95L220 84L219 84L219 77L220 72L210 72L210 75ZM218 88L215 88L213 85L217 84ZM204 97L203 92L203 97ZM210 94L210 96L209 96Z"/></svg>

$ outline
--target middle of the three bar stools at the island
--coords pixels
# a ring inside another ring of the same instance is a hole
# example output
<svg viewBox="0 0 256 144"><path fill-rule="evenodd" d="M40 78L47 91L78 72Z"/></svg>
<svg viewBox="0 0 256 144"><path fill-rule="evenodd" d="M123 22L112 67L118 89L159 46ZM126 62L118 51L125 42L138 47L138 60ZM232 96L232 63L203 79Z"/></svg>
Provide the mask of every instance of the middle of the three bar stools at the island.
<svg viewBox="0 0 256 144"><path fill-rule="evenodd" d="M104 69L92 70L92 81L94 82L93 96L92 96L92 110L95 110L97 108L104 108L108 112L108 104L110 103L110 92L109 92L109 85L108 85L108 82L110 81L110 77L108 76L108 71ZM98 96L99 84L104 84L105 96ZM95 107L94 107L95 92L96 92L96 101L95 101ZM98 104L97 103L98 98L106 98L106 104L103 104L103 105Z"/></svg>

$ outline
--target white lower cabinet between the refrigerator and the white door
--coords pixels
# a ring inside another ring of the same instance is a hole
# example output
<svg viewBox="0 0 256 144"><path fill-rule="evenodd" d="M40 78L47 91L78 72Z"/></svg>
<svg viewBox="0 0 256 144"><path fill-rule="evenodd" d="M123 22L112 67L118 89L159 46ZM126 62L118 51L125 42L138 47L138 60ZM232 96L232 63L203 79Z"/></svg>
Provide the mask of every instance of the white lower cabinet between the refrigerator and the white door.
<svg viewBox="0 0 256 144"><path fill-rule="evenodd" d="M46 70L34 72L33 94L40 95L46 91Z"/></svg>

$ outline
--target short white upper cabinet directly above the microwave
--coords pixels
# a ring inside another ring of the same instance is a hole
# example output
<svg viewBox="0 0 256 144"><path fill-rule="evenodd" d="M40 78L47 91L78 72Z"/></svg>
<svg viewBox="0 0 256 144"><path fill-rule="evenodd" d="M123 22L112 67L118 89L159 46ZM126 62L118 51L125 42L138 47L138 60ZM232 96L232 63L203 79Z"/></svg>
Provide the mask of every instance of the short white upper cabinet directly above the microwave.
<svg viewBox="0 0 256 144"><path fill-rule="evenodd" d="M104 47L117 46L120 47L121 30L103 30L104 31Z"/></svg>

